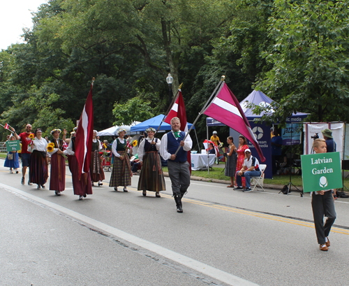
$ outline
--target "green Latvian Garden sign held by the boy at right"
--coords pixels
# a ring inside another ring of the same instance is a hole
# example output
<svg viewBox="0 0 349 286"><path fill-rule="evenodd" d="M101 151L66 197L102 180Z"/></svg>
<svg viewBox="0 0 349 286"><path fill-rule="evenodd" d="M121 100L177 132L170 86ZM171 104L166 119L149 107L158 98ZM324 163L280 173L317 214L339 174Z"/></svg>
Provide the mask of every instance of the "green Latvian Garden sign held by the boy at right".
<svg viewBox="0 0 349 286"><path fill-rule="evenodd" d="M339 152L302 155L301 164L304 192L343 187Z"/></svg>

